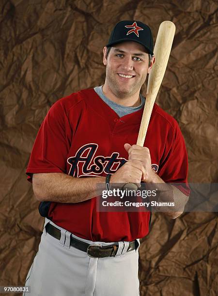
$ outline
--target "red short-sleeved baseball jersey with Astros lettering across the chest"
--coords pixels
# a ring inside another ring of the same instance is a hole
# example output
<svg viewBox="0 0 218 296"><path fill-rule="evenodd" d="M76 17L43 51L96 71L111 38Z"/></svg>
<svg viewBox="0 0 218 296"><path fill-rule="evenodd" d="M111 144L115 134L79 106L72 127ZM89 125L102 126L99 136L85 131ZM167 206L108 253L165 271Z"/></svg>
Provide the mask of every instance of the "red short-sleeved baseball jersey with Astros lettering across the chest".
<svg viewBox="0 0 218 296"><path fill-rule="evenodd" d="M52 105L35 139L26 170L75 178L113 174L128 160L124 144L136 144L143 108L119 118L94 91L85 89ZM187 183L187 150L174 118L154 105L145 143L152 167L165 182ZM181 191L189 194L188 186ZM40 212L78 237L132 241L149 231L150 212L98 212L96 197L80 203L43 202Z"/></svg>

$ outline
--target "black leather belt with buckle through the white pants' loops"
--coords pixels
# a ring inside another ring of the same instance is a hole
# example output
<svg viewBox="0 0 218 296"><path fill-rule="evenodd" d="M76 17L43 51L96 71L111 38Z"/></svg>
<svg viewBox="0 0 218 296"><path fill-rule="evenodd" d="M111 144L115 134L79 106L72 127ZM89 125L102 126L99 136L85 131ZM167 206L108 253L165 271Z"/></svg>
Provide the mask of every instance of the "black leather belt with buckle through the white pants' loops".
<svg viewBox="0 0 218 296"><path fill-rule="evenodd" d="M46 231L52 237L55 237L59 240L61 239L61 230L51 225L50 223L47 223ZM70 237L70 245L80 251L87 252L87 254L90 257L94 257L94 258L112 257L116 255L118 250L118 244L113 244L113 245L103 246L103 247L99 245L89 245L84 241L78 240L77 238L72 236ZM137 245L138 245L138 242L136 240L129 242L127 252L136 250Z"/></svg>

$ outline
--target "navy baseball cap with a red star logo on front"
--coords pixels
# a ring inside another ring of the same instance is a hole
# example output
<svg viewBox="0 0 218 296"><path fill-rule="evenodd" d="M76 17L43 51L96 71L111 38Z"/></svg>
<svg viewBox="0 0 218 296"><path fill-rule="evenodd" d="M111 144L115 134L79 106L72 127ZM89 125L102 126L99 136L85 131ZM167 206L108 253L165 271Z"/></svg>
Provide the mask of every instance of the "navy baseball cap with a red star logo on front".
<svg viewBox="0 0 218 296"><path fill-rule="evenodd" d="M151 29L144 23L135 20L124 20L113 28L107 47L123 41L135 41L143 45L147 51L153 53L153 37Z"/></svg>

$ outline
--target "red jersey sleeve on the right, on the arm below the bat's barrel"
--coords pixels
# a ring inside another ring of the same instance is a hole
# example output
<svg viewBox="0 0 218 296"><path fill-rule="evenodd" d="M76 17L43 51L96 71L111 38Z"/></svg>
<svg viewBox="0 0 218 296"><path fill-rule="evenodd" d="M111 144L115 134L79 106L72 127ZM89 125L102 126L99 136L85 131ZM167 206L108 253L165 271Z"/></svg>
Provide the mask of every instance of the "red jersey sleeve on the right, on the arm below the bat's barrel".
<svg viewBox="0 0 218 296"><path fill-rule="evenodd" d="M184 194L189 195L187 149L176 121L174 121L173 133L171 148L162 160L158 175L167 183L183 183L183 185L177 184L176 187Z"/></svg>

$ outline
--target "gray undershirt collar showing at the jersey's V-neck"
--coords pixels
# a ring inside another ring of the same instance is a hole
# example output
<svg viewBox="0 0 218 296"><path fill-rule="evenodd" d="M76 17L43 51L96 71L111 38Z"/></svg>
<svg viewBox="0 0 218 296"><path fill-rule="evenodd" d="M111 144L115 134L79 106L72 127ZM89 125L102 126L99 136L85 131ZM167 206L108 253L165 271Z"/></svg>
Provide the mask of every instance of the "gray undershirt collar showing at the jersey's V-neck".
<svg viewBox="0 0 218 296"><path fill-rule="evenodd" d="M113 109L113 111L115 111L117 113L117 115L119 117L123 117L127 114L136 112L138 110L140 110L143 106L144 106L144 102L145 102L145 98L140 94L140 99L141 99L141 104L138 107L126 107L126 106L122 106L119 104L114 103L113 101L109 100L109 98L107 98L103 91L102 91L102 86L99 87L95 87L94 90L95 92L99 95L99 97L106 103L109 105L109 107L111 109Z"/></svg>

